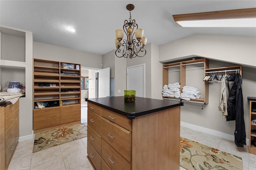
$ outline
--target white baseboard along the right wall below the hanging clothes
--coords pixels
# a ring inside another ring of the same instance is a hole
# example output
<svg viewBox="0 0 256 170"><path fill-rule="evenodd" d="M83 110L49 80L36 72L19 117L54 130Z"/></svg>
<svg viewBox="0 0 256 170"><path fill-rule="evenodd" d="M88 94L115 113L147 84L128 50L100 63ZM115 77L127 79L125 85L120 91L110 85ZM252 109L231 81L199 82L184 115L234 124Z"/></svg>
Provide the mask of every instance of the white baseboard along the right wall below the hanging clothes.
<svg viewBox="0 0 256 170"><path fill-rule="evenodd" d="M185 123L185 122L180 122L180 126L186 127L186 128L191 128L191 129L197 130L199 132L211 134L213 136L224 138L226 140L234 141L234 138L235 138L234 135L232 135L232 134L220 132L220 131L217 131L217 130L212 130L210 128L200 127L200 126L197 126L197 125L192 125L192 124ZM246 138L246 144L249 144L249 139L248 138Z"/></svg>

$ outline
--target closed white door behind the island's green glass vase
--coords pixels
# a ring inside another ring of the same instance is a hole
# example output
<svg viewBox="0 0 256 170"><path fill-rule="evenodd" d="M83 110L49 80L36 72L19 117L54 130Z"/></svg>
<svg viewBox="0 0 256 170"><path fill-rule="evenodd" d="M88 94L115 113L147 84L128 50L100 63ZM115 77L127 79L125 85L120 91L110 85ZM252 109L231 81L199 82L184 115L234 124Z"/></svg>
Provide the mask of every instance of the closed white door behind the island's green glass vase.
<svg viewBox="0 0 256 170"><path fill-rule="evenodd" d="M135 90L136 96L145 97L145 64L127 67L127 90Z"/></svg>

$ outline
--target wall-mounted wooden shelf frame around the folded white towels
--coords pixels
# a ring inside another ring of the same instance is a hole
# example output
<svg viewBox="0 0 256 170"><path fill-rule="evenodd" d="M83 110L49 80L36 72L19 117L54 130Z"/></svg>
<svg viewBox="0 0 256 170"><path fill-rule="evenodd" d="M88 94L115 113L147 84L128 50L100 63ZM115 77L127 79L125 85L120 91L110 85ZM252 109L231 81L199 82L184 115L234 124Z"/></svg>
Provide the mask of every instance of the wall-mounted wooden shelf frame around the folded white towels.
<svg viewBox="0 0 256 170"><path fill-rule="evenodd" d="M180 93L182 93L182 87L188 85L186 83L186 65L192 65L192 64L202 64L204 67L204 71L209 68L209 61L206 58L202 59L194 59L194 60L189 60L189 61L180 61L176 63L168 63L163 65L163 86L168 85L169 83L169 68L170 67L177 67L180 69ZM204 74L205 75L205 74ZM203 77L202 77L203 78ZM208 104L209 102L209 83L208 82L203 82L204 83L204 96L200 99L194 99L190 101L196 101L196 102L201 102L204 104ZM177 99L174 97L163 97L164 99ZM180 99L183 100L183 99Z"/></svg>

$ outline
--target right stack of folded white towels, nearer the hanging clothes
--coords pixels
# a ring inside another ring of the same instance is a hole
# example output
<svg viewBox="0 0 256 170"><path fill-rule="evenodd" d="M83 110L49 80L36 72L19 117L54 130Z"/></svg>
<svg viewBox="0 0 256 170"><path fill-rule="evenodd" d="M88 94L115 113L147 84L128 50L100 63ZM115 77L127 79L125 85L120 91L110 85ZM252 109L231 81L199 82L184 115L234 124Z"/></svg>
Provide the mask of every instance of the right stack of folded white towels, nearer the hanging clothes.
<svg viewBox="0 0 256 170"><path fill-rule="evenodd" d="M199 99L201 97L200 91L195 87L184 86L182 87L181 99L189 101L190 99Z"/></svg>

